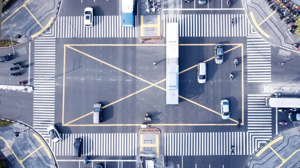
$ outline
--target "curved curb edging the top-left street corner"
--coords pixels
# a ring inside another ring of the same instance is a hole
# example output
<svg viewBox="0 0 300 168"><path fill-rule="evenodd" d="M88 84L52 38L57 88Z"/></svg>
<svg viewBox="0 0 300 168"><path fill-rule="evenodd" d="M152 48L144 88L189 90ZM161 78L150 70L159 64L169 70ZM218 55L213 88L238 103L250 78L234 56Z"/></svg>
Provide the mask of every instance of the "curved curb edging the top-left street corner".
<svg viewBox="0 0 300 168"><path fill-rule="evenodd" d="M48 27L45 26L44 28L42 28L41 30L39 30L39 31L37 32L37 33L39 33L39 34L35 33L35 34L31 35L31 36L33 36L31 39L28 39L28 40L26 40L26 41L20 42L20 43L18 43L18 44L13 45L13 46L17 46L17 45L24 44L24 43L26 43L26 42L28 42L28 41L31 41L31 40L33 40L33 39L35 39L35 38L38 38L40 35L42 35L42 34L45 33L46 31L48 31L48 29L53 25L53 23L54 23L54 21L55 21L57 15L59 14L61 3L62 3L62 0L58 0L58 4L57 4L57 8L56 8L56 14L55 14L54 17L51 17L50 20L49 20L49 22L46 24L46 26L48 25ZM53 19L52 19L52 18L53 18ZM43 31L42 31L42 30L43 30ZM42 32L40 32L40 31L42 31ZM3 46L3 47L0 47L0 49L1 49L1 48L9 48L9 47L11 47L11 45L10 45L10 46Z"/></svg>

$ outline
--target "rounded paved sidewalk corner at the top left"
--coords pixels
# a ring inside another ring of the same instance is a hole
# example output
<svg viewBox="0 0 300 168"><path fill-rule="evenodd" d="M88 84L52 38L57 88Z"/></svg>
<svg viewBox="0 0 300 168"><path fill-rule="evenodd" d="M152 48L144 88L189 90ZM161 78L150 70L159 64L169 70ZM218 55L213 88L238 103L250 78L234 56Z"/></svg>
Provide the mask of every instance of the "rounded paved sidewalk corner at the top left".
<svg viewBox="0 0 300 168"><path fill-rule="evenodd" d="M1 40L23 43L45 32L55 20L61 0L17 0L2 11ZM21 38L14 37L21 34Z"/></svg>

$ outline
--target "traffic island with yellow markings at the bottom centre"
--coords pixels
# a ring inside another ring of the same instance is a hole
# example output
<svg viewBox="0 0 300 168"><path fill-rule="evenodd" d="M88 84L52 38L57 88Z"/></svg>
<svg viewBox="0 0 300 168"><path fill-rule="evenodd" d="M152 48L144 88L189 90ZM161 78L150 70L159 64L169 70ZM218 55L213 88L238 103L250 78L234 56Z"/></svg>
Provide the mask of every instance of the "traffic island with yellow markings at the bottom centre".
<svg viewBox="0 0 300 168"><path fill-rule="evenodd" d="M157 128L142 128L138 131L138 139L139 167L163 166L163 156L159 154L160 131Z"/></svg>

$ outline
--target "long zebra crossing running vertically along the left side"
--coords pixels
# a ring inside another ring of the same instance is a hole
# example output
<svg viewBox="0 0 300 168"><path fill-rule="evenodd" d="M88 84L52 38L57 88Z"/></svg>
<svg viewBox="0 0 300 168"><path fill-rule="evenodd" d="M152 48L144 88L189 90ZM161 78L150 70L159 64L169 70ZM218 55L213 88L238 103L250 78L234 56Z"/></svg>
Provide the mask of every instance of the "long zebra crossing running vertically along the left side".
<svg viewBox="0 0 300 168"><path fill-rule="evenodd" d="M49 137L55 107L55 37L50 31L34 40L33 72L33 128Z"/></svg>

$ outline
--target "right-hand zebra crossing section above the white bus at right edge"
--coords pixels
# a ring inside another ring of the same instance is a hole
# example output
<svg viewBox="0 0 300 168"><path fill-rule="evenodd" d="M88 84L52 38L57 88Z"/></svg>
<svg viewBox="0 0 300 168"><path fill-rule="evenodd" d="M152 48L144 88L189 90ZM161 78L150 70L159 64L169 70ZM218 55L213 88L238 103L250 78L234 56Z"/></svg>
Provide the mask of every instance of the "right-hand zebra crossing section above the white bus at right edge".
<svg viewBox="0 0 300 168"><path fill-rule="evenodd" d="M247 82L271 82L271 45L257 32L247 36Z"/></svg>

